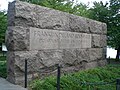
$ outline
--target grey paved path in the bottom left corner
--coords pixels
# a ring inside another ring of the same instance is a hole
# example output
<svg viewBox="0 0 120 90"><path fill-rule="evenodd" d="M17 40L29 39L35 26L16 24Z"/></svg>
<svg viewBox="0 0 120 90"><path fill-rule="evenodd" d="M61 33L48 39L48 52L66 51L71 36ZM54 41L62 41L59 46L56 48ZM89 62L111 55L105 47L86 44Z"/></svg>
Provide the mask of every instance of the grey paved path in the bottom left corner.
<svg viewBox="0 0 120 90"><path fill-rule="evenodd" d="M3 78L0 78L0 90L27 90L19 85L9 83Z"/></svg>

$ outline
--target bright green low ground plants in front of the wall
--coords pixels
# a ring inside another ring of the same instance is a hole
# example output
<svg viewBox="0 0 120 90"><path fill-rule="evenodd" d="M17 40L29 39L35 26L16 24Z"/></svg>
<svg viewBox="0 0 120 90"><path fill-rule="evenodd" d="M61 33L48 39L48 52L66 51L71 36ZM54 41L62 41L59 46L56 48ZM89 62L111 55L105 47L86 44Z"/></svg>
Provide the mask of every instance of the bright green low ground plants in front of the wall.
<svg viewBox="0 0 120 90"><path fill-rule="evenodd" d="M61 90L116 90L116 79L120 77L120 66L109 65L67 75L60 79ZM56 90L56 77L34 80L32 90Z"/></svg>

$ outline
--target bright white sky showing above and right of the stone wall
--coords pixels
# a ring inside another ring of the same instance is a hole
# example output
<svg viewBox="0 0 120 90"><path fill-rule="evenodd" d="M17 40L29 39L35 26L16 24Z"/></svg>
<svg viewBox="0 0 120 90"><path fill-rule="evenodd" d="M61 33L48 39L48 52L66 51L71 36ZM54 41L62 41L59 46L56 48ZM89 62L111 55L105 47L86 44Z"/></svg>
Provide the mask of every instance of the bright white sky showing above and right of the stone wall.
<svg viewBox="0 0 120 90"><path fill-rule="evenodd" d="M8 8L8 2L12 2L13 0L0 0L0 10L7 10ZM75 2L82 2L85 4L88 4L92 6L92 2L94 1L101 1L101 0L74 0ZM109 0L102 0L103 3L108 2ZM112 48L107 48L107 57L115 58L117 51Z"/></svg>

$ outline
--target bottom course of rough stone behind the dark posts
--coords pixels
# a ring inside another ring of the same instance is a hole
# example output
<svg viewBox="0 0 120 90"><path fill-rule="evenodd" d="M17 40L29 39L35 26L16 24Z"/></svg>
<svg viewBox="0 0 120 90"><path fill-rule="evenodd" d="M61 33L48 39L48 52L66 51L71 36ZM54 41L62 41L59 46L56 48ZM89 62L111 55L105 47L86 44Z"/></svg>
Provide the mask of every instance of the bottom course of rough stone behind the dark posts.
<svg viewBox="0 0 120 90"><path fill-rule="evenodd" d="M57 74L57 65L61 73L77 72L84 69L106 65L101 54L102 48L63 49L39 51L8 52L7 80L24 86L25 60L28 62L28 81Z"/></svg>

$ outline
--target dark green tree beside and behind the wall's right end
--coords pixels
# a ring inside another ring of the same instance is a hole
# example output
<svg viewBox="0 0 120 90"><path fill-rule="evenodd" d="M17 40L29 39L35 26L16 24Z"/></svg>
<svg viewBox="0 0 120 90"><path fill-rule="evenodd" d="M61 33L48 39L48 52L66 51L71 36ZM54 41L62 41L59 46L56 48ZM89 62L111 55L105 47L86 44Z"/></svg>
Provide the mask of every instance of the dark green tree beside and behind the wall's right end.
<svg viewBox="0 0 120 90"><path fill-rule="evenodd" d="M120 0L110 0L109 4L94 2L90 8L90 18L107 24L108 46L116 48L116 59L120 55Z"/></svg>

